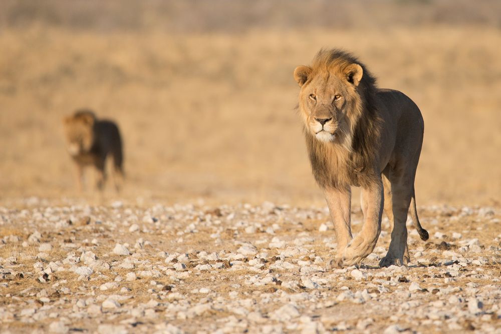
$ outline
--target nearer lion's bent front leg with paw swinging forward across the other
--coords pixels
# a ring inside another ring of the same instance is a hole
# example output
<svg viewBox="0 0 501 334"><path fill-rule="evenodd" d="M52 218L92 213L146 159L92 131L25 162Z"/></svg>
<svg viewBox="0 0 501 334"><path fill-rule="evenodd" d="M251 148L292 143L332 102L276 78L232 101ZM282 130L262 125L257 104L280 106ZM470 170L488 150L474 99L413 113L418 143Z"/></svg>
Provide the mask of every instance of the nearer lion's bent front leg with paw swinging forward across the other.
<svg viewBox="0 0 501 334"><path fill-rule="evenodd" d="M350 266L359 263L369 255L376 246L381 232L381 215L383 212L383 185L378 182L362 189L366 212L362 231L348 244L343 253L343 264Z"/></svg>

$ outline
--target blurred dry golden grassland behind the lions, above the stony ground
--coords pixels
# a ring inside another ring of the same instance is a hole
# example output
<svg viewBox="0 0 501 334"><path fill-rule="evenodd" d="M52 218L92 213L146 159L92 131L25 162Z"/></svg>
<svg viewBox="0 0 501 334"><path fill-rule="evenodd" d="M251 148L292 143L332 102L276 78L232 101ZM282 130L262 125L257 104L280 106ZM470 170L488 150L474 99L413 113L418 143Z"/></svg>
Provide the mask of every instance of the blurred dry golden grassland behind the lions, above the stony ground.
<svg viewBox="0 0 501 334"><path fill-rule="evenodd" d="M82 107L123 133L126 187L110 198L322 203L292 73L336 47L420 107L418 205L500 205L499 13L461 0L3 0L0 203L80 196L61 120Z"/></svg>

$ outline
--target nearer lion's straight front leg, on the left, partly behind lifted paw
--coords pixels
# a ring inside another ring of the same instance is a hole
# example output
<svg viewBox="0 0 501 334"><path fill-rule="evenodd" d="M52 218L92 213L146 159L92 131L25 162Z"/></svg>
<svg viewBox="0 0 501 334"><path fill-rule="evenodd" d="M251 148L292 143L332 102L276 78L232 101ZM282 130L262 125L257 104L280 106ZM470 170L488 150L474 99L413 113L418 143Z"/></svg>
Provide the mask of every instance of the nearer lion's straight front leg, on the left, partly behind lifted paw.
<svg viewBox="0 0 501 334"><path fill-rule="evenodd" d="M340 189L329 188L324 189L324 194L331 212L338 243L336 258L330 264L342 267L343 251L352 239L350 227L351 189L349 186Z"/></svg>

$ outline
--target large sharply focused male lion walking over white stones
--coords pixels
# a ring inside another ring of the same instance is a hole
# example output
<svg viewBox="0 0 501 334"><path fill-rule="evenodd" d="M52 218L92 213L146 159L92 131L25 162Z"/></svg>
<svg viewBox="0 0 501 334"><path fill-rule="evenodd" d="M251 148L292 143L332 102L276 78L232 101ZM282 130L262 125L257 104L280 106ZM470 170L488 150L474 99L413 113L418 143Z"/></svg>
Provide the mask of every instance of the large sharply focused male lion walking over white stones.
<svg viewBox="0 0 501 334"><path fill-rule="evenodd" d="M421 239L414 178L424 121L403 93L379 89L364 64L351 54L322 49L311 66L299 66L299 110L313 176L324 192L338 242L331 265L358 264L374 249L382 211L391 225L391 242L379 265L406 265L407 213ZM361 187L364 224L352 237L351 186Z"/></svg>

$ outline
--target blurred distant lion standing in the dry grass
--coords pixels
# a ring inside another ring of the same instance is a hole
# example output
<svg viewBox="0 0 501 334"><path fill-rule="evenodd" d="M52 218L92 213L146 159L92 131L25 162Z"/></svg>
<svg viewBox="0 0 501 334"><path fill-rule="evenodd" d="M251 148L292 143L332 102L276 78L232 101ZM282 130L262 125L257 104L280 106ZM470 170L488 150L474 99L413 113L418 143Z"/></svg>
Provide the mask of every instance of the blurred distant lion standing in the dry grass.
<svg viewBox="0 0 501 334"><path fill-rule="evenodd" d="M99 120L90 110L77 110L63 120L67 150L76 166L78 191L82 191L83 168L94 166L97 170L97 188L103 190L106 181L105 163L113 159L113 181L120 190L123 182L122 138L115 122Z"/></svg>

